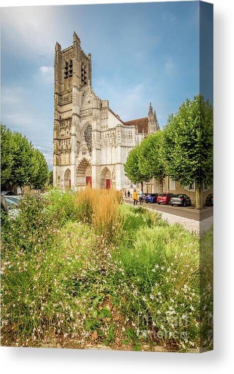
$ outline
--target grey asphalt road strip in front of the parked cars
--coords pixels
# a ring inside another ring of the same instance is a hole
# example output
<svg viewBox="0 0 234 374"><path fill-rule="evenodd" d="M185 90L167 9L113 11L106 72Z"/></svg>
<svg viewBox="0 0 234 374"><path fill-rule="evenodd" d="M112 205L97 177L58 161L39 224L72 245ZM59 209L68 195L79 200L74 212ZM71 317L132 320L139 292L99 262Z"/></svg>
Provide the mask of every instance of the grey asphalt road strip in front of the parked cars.
<svg viewBox="0 0 234 374"><path fill-rule="evenodd" d="M133 201L124 199L125 203L132 204ZM139 206L139 202L137 203ZM194 207L172 207L171 205L158 205L158 204L146 204L143 203L144 208L150 208L159 212L174 214L179 217L193 219L195 221L202 221L206 218L213 216L213 207L204 207L201 210L197 210Z"/></svg>

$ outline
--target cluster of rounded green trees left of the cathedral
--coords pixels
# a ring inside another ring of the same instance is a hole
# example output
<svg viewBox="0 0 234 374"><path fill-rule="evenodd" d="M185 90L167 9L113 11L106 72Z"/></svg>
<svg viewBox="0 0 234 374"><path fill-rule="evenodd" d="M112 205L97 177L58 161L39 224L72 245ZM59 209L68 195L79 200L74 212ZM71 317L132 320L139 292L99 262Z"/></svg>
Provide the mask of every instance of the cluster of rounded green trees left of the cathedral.
<svg viewBox="0 0 234 374"><path fill-rule="evenodd" d="M8 188L29 185L41 189L48 181L48 165L44 155L18 132L1 123L1 186Z"/></svg>

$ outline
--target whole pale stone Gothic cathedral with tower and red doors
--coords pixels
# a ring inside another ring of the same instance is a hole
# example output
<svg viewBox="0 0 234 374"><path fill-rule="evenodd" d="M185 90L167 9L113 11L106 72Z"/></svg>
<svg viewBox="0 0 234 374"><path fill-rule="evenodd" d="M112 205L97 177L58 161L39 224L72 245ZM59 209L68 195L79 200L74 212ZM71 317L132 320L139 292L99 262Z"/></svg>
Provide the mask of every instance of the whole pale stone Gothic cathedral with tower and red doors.
<svg viewBox="0 0 234 374"><path fill-rule="evenodd" d="M127 189L124 173L128 153L159 130L151 103L148 116L123 121L92 88L91 54L74 32L71 46L55 45L53 182L65 190L90 184L95 188Z"/></svg>

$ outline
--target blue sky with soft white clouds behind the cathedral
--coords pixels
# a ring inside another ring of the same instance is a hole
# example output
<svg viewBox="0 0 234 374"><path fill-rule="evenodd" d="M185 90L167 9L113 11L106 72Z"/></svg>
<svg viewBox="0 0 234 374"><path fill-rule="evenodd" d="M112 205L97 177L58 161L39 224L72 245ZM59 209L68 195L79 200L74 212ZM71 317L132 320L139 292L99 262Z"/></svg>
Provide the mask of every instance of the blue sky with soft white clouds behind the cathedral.
<svg viewBox="0 0 234 374"><path fill-rule="evenodd" d="M1 10L1 122L26 135L52 167L56 41L73 31L92 54L92 86L122 120L160 127L199 92L199 2L16 7Z"/></svg>

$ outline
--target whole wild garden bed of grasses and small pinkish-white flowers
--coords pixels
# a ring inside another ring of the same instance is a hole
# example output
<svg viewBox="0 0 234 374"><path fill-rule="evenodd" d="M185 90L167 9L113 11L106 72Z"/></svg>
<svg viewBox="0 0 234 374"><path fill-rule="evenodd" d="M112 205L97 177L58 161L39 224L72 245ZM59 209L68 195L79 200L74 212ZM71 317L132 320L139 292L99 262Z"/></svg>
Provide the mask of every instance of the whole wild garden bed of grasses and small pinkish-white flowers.
<svg viewBox="0 0 234 374"><path fill-rule="evenodd" d="M211 255L212 231L200 242L114 190L28 198L2 227L2 344L211 346Z"/></svg>

